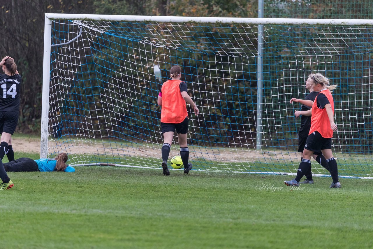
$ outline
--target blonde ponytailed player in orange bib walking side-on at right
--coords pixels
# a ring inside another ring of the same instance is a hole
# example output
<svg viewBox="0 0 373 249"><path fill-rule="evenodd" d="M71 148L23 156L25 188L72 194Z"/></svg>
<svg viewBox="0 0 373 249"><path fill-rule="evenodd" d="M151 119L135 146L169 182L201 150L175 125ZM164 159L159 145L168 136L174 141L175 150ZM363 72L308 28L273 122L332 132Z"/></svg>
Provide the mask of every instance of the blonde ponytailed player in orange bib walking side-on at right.
<svg viewBox="0 0 373 249"><path fill-rule="evenodd" d="M311 85L314 91L319 92L314 101L292 98L290 103L299 102L312 106L311 128L303 150L303 159L299 164L297 177L291 181L284 181L288 186L299 186L305 172L311 167L311 156L315 151L321 150L329 166L333 182L331 188L340 188L338 180L338 165L332 154L333 131L337 131L334 122L334 100L330 90L337 85L329 85L329 80L321 74L310 74Z"/></svg>

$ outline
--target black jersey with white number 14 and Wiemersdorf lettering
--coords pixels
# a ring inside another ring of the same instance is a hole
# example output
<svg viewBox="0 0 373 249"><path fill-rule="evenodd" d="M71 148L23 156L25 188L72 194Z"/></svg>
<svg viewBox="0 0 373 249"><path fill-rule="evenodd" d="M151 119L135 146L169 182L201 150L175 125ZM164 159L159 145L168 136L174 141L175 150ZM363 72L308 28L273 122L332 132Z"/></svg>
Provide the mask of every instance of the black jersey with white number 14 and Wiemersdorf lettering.
<svg viewBox="0 0 373 249"><path fill-rule="evenodd" d="M19 90L22 77L19 74L9 76L0 74L0 112L19 111Z"/></svg>

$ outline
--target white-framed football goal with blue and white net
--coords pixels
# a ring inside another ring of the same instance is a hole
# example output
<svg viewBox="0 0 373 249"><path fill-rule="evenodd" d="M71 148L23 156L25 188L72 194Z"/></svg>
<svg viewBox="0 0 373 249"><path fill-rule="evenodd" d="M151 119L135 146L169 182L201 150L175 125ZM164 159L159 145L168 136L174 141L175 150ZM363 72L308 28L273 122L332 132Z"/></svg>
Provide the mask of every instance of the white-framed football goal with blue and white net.
<svg viewBox="0 0 373 249"><path fill-rule="evenodd" d="M289 100L304 99L305 80L318 72L338 84L339 175L370 178L372 24L47 14L41 156L160 168L157 97L177 64L200 109L187 107L193 169L295 174L300 105ZM179 155L174 138L170 158ZM311 162L314 174L329 175Z"/></svg>

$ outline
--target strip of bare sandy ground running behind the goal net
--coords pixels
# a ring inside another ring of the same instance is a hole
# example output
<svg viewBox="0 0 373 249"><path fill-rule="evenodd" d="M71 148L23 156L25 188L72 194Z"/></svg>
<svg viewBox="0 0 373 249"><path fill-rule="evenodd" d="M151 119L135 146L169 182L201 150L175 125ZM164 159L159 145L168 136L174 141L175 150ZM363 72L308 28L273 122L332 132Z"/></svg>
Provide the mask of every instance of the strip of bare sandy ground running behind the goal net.
<svg viewBox="0 0 373 249"><path fill-rule="evenodd" d="M40 139L37 138L15 138L12 141L15 150L24 152L40 153ZM66 152L72 154L99 154L99 155L123 155L159 158L162 144L121 144L111 143L87 143L85 141L69 141L60 143L50 141L49 150L52 153ZM173 145L170 157L179 155L178 146ZM232 149L232 148L208 148L189 146L191 158L204 158L212 161L222 162L256 162L266 160L284 161L298 160L295 152L281 153L280 151L259 152L253 149Z"/></svg>

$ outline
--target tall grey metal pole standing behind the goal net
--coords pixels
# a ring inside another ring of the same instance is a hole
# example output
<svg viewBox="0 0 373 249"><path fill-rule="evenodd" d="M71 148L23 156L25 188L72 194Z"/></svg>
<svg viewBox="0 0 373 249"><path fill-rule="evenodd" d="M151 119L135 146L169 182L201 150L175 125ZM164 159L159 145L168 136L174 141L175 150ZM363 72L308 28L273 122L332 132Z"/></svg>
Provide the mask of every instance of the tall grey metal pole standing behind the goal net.
<svg viewBox="0 0 373 249"><path fill-rule="evenodd" d="M258 18L263 18L263 0L258 0ZM256 149L261 150L261 140L263 139L263 124L261 122L261 112L263 109L263 25L258 25L258 59L257 59L257 142Z"/></svg>

